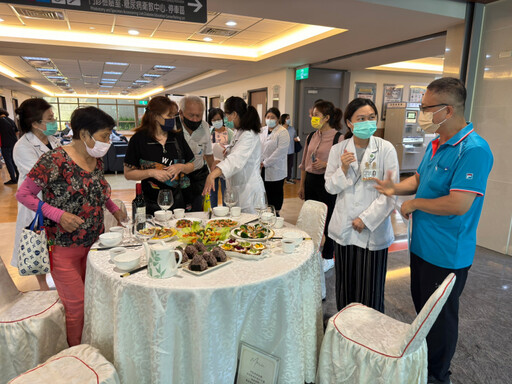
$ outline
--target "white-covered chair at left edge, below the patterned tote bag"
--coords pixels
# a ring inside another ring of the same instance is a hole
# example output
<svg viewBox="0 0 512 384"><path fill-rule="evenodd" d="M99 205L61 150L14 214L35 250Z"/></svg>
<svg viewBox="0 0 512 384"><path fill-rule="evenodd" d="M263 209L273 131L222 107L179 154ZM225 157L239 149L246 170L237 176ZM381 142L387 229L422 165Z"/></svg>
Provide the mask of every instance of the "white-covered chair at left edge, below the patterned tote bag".
<svg viewBox="0 0 512 384"><path fill-rule="evenodd" d="M0 259L0 383L68 347L56 291L18 291Z"/></svg>

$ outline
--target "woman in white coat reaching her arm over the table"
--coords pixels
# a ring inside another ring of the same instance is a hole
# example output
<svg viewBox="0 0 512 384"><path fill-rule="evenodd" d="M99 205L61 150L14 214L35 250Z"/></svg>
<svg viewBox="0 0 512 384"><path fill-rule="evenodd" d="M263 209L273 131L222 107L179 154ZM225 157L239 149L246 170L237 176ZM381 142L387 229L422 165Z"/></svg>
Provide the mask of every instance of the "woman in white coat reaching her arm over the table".
<svg viewBox="0 0 512 384"><path fill-rule="evenodd" d="M261 130L258 111L240 97L231 96L224 103L224 123L227 128L235 128L233 141L225 151L225 158L217 164L208 177L203 195L215 189L215 179L223 176L227 189L238 192L238 205L243 212L253 213L255 198L265 193L260 176Z"/></svg>

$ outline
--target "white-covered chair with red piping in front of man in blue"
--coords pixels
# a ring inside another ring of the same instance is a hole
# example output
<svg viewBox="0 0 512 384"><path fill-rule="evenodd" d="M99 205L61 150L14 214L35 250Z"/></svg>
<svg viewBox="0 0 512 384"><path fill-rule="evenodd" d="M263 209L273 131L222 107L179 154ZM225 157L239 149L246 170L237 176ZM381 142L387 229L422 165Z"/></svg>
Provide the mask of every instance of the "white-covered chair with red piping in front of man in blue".
<svg viewBox="0 0 512 384"><path fill-rule="evenodd" d="M426 383L426 337L454 284L455 274L450 273L412 324L363 304L347 305L329 319L316 382Z"/></svg>

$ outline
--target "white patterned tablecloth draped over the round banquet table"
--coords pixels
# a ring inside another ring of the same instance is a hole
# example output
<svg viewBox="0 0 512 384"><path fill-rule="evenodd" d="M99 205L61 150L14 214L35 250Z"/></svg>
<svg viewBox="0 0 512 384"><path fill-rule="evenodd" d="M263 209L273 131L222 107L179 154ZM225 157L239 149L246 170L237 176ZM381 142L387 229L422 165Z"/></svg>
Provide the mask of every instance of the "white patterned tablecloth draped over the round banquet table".
<svg viewBox="0 0 512 384"><path fill-rule="evenodd" d="M290 226L276 236L285 230L306 236ZM82 342L115 365L122 383L233 383L240 342L280 359L279 383L314 382L323 327L313 242L232 260L201 276L180 269L170 279L147 271L121 278L108 251L91 251Z"/></svg>

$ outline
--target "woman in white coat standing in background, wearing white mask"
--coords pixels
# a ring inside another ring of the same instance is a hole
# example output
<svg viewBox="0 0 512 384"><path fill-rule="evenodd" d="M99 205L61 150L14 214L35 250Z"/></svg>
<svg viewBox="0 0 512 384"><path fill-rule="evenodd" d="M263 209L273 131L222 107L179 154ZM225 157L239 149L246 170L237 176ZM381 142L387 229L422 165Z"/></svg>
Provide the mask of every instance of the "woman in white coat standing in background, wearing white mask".
<svg viewBox="0 0 512 384"><path fill-rule="evenodd" d="M288 147L290 135L288 130L278 124L281 112L270 108L265 114L266 126L262 128L260 139L262 144L261 177L265 184L267 200L279 213L284 200L284 179L287 173Z"/></svg>

